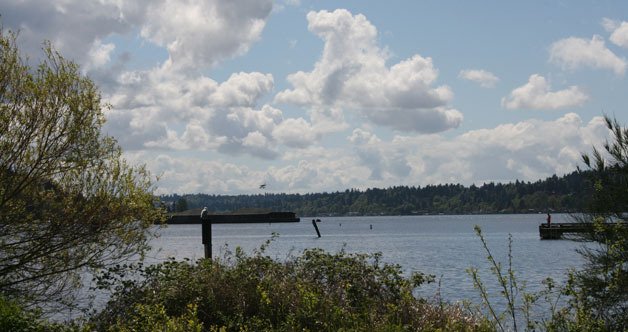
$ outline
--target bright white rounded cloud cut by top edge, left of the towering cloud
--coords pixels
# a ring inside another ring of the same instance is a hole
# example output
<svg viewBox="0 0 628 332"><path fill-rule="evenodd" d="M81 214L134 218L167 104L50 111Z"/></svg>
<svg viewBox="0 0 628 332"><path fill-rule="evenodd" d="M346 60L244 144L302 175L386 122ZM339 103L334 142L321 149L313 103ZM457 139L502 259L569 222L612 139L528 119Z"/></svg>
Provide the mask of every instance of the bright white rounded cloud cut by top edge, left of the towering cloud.
<svg viewBox="0 0 628 332"><path fill-rule="evenodd" d="M166 47L175 67L206 67L248 51L271 10L271 0L165 0L146 8L141 35Z"/></svg>

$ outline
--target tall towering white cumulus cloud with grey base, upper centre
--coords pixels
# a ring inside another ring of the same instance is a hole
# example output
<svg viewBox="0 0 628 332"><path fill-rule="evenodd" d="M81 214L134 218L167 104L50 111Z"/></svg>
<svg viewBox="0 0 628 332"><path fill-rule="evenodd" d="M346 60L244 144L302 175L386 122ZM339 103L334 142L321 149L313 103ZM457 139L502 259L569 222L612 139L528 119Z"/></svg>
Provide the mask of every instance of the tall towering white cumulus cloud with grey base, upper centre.
<svg viewBox="0 0 628 332"><path fill-rule="evenodd" d="M347 10L307 14L308 29L325 42L311 72L288 76L293 89L275 101L311 108L350 109L393 129L438 132L457 127L462 114L448 106L453 93L434 86L431 58L414 55L391 67L377 45L377 29L364 15Z"/></svg>

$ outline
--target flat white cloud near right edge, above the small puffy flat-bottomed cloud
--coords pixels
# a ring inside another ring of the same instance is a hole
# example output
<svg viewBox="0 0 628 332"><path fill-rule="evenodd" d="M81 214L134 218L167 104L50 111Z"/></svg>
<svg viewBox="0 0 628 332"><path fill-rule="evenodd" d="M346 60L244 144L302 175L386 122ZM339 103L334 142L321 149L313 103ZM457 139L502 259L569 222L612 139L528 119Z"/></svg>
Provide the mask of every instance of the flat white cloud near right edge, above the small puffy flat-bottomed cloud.
<svg viewBox="0 0 628 332"><path fill-rule="evenodd" d="M569 70L585 66L609 69L617 75L626 71L626 60L606 48L600 36L593 36L591 40L576 37L561 39L550 46L550 61Z"/></svg>

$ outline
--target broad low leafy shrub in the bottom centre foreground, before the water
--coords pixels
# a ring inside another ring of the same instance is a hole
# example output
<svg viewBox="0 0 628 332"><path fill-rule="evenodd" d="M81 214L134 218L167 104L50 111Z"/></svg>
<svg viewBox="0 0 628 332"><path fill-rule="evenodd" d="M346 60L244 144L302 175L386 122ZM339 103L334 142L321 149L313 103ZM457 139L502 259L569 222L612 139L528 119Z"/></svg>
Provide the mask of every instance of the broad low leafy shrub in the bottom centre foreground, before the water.
<svg viewBox="0 0 628 332"><path fill-rule="evenodd" d="M433 278L404 277L380 254L307 249L278 262L236 250L215 260L168 261L141 268L141 280L109 271L99 286L113 288L95 330L149 330L141 322L172 321L181 330L406 331L490 330L461 307L428 303L413 290ZM152 318L156 317L156 318ZM133 322L133 323L127 323ZM135 324L131 326L130 324ZM140 324L141 325L141 324Z"/></svg>

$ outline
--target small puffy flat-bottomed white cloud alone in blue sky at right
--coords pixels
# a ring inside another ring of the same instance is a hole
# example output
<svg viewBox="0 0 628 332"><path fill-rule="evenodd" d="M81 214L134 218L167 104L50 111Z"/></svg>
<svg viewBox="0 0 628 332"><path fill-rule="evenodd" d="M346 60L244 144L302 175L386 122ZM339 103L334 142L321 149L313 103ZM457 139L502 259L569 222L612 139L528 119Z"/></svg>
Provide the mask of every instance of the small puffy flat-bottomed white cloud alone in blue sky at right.
<svg viewBox="0 0 628 332"><path fill-rule="evenodd" d="M508 109L549 109L582 106L589 97L577 86L565 90L550 91L550 85L541 75L534 74L528 83L514 89L502 98L502 106Z"/></svg>

